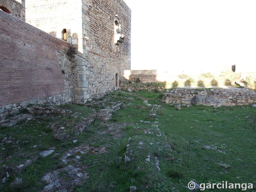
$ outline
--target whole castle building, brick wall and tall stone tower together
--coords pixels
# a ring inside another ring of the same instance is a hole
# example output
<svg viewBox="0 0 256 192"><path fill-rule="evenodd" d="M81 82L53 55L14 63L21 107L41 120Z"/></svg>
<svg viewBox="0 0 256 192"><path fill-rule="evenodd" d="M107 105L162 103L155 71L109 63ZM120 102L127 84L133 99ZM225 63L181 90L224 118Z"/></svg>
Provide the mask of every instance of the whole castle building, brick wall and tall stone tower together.
<svg viewBox="0 0 256 192"><path fill-rule="evenodd" d="M0 117L28 103L84 104L131 69L123 0L0 0Z"/></svg>

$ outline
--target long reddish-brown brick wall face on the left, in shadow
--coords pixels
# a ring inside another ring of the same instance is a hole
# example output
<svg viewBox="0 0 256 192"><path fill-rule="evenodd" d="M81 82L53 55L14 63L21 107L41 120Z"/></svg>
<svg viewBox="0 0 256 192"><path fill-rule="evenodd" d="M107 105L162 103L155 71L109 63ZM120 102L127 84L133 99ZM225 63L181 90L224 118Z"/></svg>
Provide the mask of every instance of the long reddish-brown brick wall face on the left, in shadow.
<svg viewBox="0 0 256 192"><path fill-rule="evenodd" d="M0 11L0 106L65 92L57 51L69 44Z"/></svg>

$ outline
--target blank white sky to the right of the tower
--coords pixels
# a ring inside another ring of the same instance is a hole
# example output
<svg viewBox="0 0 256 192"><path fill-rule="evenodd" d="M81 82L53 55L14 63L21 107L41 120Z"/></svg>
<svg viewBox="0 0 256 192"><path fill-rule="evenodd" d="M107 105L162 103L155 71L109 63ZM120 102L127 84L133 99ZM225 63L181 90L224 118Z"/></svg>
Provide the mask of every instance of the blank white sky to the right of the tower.
<svg viewBox="0 0 256 192"><path fill-rule="evenodd" d="M124 2L132 10L132 70L256 64L255 0Z"/></svg>

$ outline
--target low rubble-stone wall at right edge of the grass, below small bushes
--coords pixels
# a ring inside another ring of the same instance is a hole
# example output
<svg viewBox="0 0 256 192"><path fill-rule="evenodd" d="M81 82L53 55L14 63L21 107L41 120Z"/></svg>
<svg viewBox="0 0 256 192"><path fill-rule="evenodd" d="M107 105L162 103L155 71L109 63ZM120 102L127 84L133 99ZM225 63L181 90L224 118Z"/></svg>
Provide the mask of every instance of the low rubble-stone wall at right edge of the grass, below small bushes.
<svg viewBox="0 0 256 192"><path fill-rule="evenodd" d="M163 94L163 102L171 105L237 106L256 103L256 93L249 89L172 89Z"/></svg>

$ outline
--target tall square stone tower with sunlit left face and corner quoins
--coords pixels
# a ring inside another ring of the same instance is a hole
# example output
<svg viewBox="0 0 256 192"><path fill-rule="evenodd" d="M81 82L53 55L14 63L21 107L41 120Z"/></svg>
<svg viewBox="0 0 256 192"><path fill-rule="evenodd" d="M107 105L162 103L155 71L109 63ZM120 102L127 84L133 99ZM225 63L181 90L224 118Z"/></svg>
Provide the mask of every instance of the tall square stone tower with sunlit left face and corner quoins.
<svg viewBox="0 0 256 192"><path fill-rule="evenodd" d="M26 0L26 21L75 48L78 104L118 88L131 68L131 10L122 0Z"/></svg>

